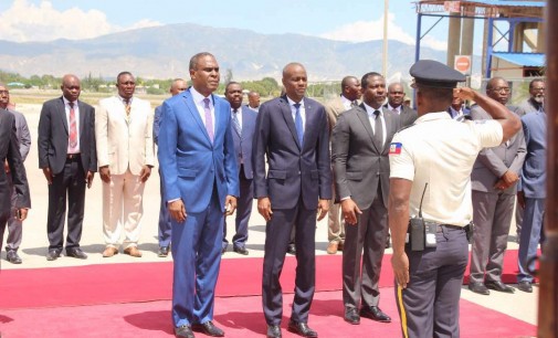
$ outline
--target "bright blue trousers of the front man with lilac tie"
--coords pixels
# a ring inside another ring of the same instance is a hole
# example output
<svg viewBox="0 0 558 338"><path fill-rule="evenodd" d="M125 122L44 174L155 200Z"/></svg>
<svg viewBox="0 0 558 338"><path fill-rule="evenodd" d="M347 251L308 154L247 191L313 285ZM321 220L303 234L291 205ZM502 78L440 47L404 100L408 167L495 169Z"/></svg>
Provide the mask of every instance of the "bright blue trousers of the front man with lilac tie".
<svg viewBox="0 0 558 338"><path fill-rule="evenodd" d="M221 265L223 209L213 188L208 208L172 223L172 321L175 327L213 320L215 284Z"/></svg>

